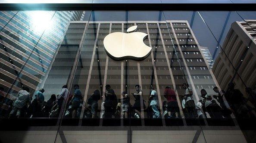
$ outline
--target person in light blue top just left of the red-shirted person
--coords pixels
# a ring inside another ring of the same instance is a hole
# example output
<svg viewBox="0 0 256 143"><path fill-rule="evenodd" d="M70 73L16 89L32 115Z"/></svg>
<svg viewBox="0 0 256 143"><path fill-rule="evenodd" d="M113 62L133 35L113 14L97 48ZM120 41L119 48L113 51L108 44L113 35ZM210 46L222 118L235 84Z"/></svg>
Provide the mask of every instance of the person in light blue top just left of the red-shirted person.
<svg viewBox="0 0 256 143"><path fill-rule="evenodd" d="M160 113L157 106L158 96L157 96L156 90L154 90L153 87L150 87L150 92L151 93L150 93L149 100L151 100L150 107L153 110L153 118L160 118Z"/></svg>

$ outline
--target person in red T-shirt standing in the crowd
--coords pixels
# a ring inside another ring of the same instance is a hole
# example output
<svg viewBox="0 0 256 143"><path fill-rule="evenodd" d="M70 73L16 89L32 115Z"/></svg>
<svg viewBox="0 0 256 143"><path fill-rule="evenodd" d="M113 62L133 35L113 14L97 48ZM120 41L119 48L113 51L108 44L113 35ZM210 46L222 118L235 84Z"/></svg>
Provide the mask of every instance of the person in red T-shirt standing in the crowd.
<svg viewBox="0 0 256 143"><path fill-rule="evenodd" d="M178 102L177 98L175 95L174 90L171 89L170 86L165 87L165 92L164 92L164 97L167 99L167 111L168 111L168 116L169 118L172 118L175 113L175 117L178 118L178 113L179 113L179 107L178 107Z"/></svg>

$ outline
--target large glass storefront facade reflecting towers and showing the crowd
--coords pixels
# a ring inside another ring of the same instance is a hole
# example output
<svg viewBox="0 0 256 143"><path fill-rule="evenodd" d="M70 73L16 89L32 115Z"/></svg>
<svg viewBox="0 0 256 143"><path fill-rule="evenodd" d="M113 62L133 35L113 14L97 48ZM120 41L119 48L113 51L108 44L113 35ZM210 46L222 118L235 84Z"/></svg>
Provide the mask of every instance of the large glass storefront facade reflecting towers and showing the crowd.
<svg viewBox="0 0 256 143"><path fill-rule="evenodd" d="M254 14L1 11L1 124L32 126L24 142L253 143ZM116 61L104 39L132 26L152 50Z"/></svg>

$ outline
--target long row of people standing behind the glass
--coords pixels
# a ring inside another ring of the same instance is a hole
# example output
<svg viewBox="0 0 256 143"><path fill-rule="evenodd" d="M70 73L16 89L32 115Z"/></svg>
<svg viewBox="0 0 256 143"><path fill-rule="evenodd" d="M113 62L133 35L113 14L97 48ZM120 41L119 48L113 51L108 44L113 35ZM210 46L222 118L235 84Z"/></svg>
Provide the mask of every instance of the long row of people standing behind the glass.
<svg viewBox="0 0 256 143"><path fill-rule="evenodd" d="M182 87L184 95L181 98L181 108L186 118L207 118L208 116L210 118L231 118L232 113L237 118L255 117L256 91L249 87L246 88L248 98L245 98L239 89L234 89L234 83L228 84L226 92L214 87L213 90L218 95L209 95L205 89L201 89L201 99L196 104L193 90L187 83L184 83ZM140 85L135 85L134 88L135 92L131 93L134 97L133 105L127 92L122 92L121 98L118 99L110 85L106 85L104 97L98 89L95 90L87 100L83 117L98 118L100 112L100 118L142 118L141 112L144 111L147 113L147 118L161 118L161 115L164 118L181 117L177 94L170 86L166 86L164 90L166 101L162 103L162 113L159 109L157 92L153 87L150 87L147 103L143 99L144 95ZM67 118L78 118L81 115L84 98L79 85L74 85L74 89L75 92L72 95L64 85L58 95L53 94L48 101L44 101L44 89L36 91L32 100L29 88L24 87L12 103L9 118L54 118L59 117L60 113ZM98 101L101 98L103 100L99 111ZM252 105L249 105L248 101ZM65 110L61 112L62 109Z"/></svg>

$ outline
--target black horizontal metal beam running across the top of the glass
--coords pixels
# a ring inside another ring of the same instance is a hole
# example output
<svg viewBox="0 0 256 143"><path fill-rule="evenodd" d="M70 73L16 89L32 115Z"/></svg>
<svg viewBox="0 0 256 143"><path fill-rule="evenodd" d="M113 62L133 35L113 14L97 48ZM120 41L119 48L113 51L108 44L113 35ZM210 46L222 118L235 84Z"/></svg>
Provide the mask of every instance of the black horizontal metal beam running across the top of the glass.
<svg viewBox="0 0 256 143"><path fill-rule="evenodd" d="M2 3L0 10L255 11L256 3Z"/></svg>

